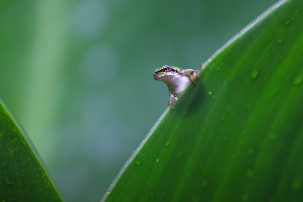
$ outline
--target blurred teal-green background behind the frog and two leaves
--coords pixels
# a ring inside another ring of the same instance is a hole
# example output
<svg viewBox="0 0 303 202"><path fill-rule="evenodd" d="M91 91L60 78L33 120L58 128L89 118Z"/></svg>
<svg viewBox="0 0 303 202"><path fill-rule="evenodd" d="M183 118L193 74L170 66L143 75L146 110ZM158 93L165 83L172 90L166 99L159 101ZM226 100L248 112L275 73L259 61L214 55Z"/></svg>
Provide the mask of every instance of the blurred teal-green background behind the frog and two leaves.
<svg viewBox="0 0 303 202"><path fill-rule="evenodd" d="M0 96L65 201L100 201L167 107L155 68L198 69L274 3L1 1Z"/></svg>

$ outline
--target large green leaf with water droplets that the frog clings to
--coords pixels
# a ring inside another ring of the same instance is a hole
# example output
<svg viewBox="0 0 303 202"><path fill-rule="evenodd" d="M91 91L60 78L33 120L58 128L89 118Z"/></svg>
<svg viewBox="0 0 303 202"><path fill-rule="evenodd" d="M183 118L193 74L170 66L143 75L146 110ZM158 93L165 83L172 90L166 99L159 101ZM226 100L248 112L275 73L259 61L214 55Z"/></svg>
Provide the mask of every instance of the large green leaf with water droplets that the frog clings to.
<svg viewBox="0 0 303 202"><path fill-rule="evenodd" d="M102 200L303 201L302 58L303 1L280 1L209 59Z"/></svg>

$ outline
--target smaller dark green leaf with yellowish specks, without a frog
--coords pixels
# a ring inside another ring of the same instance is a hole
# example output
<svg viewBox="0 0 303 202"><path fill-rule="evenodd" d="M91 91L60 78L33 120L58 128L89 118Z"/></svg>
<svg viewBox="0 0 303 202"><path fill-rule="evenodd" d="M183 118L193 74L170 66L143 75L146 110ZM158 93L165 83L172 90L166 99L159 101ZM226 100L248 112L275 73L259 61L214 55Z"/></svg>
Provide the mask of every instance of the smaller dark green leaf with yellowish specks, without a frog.
<svg viewBox="0 0 303 202"><path fill-rule="evenodd" d="M29 143L0 99L0 201L63 201Z"/></svg>

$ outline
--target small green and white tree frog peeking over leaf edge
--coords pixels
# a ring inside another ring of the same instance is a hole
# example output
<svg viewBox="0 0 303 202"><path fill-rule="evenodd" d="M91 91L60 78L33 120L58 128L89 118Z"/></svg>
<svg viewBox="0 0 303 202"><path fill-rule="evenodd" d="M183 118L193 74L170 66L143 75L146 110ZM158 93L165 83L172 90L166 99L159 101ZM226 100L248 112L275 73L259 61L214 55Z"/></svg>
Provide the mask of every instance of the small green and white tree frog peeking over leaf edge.
<svg viewBox="0 0 303 202"><path fill-rule="evenodd" d="M195 78L199 78L197 75L201 71L203 63L198 70L193 69L180 69L178 67L169 67L167 65L162 68L158 68L154 71L154 78L156 81L164 82L168 87L169 100L165 102L170 108L173 108L173 104L185 88L193 82L196 85Z"/></svg>

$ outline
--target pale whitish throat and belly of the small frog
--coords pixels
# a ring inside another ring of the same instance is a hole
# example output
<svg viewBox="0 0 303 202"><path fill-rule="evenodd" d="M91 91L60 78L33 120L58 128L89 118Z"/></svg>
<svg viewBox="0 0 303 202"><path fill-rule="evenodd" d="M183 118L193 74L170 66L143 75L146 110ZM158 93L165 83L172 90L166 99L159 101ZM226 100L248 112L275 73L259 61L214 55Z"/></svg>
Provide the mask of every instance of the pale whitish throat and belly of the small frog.
<svg viewBox="0 0 303 202"><path fill-rule="evenodd" d="M183 92L188 84L190 84L190 80L186 75L175 76L170 79L169 83L166 83L169 93L176 96Z"/></svg>

